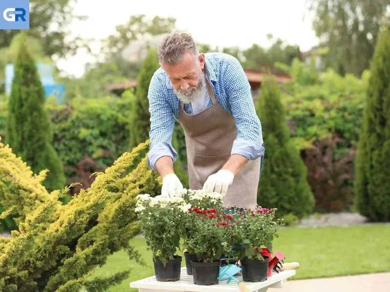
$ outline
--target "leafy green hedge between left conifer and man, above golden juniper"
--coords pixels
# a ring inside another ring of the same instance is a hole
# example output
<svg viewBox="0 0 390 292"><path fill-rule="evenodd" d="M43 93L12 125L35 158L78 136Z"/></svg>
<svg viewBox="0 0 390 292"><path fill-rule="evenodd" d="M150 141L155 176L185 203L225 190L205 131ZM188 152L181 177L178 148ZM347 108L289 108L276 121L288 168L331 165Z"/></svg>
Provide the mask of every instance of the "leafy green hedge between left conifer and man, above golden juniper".
<svg viewBox="0 0 390 292"><path fill-rule="evenodd" d="M127 92L123 97L74 99L66 105L46 103L53 123L54 148L68 184L81 182L82 187L89 187L92 173L104 170L128 149L131 98L132 92ZM75 188L77 192L80 187Z"/></svg>

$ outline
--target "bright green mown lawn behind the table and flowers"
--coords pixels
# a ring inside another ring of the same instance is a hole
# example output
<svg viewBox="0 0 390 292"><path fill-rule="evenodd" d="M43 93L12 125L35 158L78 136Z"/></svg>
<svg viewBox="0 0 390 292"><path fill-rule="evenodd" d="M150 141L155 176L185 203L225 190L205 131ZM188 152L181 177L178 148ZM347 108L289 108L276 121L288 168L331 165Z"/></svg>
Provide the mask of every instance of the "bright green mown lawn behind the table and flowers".
<svg viewBox="0 0 390 292"><path fill-rule="evenodd" d="M291 279L390 271L390 224L284 228L279 234L274 250L282 251L286 262L299 262L301 266ZM124 252L114 253L97 274L108 276L129 267L133 267L133 272L109 292L136 292L137 289L129 288L129 283L153 275L151 253L146 250L144 239L137 236L131 244L142 253L150 268L129 261Z"/></svg>

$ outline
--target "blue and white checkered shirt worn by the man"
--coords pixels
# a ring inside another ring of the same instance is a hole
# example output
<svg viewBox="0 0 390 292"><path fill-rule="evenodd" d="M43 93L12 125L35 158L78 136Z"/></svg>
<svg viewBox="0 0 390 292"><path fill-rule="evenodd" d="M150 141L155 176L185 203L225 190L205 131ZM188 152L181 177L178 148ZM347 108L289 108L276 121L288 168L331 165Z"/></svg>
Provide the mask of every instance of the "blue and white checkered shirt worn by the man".
<svg viewBox="0 0 390 292"><path fill-rule="evenodd" d="M205 54L205 76L214 89L217 102L236 120L237 138L231 154L248 159L264 156L264 144L260 119L256 114L250 85L240 62L224 53ZM155 163L162 156L177 159L172 147L174 118L179 119L180 99L173 91L165 71L159 68L153 75L148 91L150 112L150 152L147 165L156 171ZM207 95L205 107L212 105ZM191 104L185 103L184 110L192 114Z"/></svg>

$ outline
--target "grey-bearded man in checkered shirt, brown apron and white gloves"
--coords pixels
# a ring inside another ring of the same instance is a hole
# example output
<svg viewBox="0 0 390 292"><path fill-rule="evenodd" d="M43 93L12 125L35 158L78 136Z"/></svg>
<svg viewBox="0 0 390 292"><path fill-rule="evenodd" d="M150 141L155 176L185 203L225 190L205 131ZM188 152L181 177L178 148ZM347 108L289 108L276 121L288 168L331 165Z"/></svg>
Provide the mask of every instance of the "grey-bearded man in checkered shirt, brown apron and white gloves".
<svg viewBox="0 0 390 292"><path fill-rule="evenodd" d="M151 79L148 167L163 178L162 195L183 185L173 170L174 118L185 132L189 188L224 196L225 207L254 208L263 166L261 123L239 61L199 53L188 34L175 32L158 48Z"/></svg>

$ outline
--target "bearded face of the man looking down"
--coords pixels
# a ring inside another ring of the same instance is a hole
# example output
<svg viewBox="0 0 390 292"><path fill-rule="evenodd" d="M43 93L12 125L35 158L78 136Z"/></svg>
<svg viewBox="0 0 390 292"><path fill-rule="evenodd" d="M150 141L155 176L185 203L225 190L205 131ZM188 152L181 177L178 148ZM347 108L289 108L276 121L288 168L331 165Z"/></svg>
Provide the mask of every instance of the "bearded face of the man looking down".
<svg viewBox="0 0 390 292"><path fill-rule="evenodd" d="M180 63L170 65L162 63L161 67L168 75L174 92L183 102L193 102L205 89L205 55L199 58L187 53Z"/></svg>

